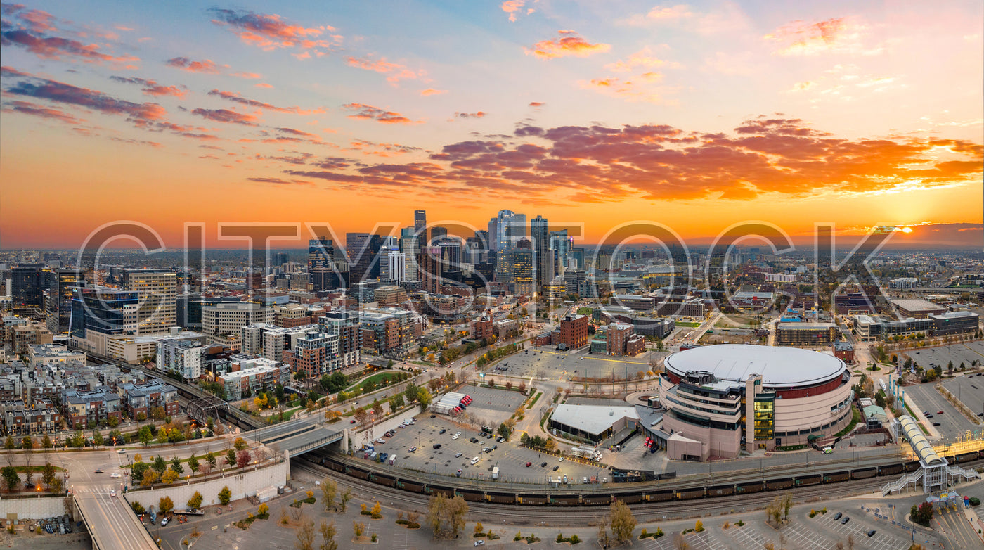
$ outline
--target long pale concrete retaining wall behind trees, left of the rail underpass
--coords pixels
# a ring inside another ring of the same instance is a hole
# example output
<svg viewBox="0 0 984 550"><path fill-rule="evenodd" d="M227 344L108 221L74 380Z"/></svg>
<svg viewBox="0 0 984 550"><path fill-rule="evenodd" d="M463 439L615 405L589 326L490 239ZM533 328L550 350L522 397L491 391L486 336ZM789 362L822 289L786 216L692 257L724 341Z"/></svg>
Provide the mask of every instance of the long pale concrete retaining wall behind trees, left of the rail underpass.
<svg viewBox="0 0 984 550"><path fill-rule="evenodd" d="M185 508L185 504L195 494L195 491L198 491L202 493L202 506L212 506L218 504L218 492L222 490L222 487L227 486L232 491L233 501L244 499L256 495L260 489L286 484L289 469L290 462L281 461L258 470L246 471L244 473L228 473L225 477L218 477L189 485L174 485L159 489L130 491L125 495L125 498L129 503L134 501L139 502L144 505L144 508L151 505L154 505L154 508L156 508L161 498L170 497L174 503L174 508L181 510Z"/></svg>

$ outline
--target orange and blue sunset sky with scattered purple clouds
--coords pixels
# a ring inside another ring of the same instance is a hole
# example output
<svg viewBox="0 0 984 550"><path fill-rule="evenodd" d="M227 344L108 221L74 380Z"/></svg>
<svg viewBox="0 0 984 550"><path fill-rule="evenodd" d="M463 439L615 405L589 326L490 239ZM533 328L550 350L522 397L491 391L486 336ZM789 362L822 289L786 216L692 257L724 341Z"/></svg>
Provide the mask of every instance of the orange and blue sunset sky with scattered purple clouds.
<svg viewBox="0 0 984 550"><path fill-rule="evenodd" d="M0 248L134 220L984 243L984 4L2 5ZM302 234L302 239L310 235ZM301 240L297 241L302 242ZM306 241L303 241L306 242ZM901 241L899 241L901 242ZM287 244L289 243L281 243Z"/></svg>

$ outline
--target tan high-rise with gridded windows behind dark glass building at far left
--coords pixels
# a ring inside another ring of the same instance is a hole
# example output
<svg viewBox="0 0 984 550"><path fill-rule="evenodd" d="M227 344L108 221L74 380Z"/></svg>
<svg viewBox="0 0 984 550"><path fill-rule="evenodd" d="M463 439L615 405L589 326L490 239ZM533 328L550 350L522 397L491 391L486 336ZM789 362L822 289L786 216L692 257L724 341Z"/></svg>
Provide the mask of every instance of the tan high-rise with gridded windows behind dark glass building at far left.
<svg viewBox="0 0 984 550"><path fill-rule="evenodd" d="M166 333L171 327L177 327L177 273L172 270L127 270L123 272L123 287L140 294L139 334Z"/></svg>

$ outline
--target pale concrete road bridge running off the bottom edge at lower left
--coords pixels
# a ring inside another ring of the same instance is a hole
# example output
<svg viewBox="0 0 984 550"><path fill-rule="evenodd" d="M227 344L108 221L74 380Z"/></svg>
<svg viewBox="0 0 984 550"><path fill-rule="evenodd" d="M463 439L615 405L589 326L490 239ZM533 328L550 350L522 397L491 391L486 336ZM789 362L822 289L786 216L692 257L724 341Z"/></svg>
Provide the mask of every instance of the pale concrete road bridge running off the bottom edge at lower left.
<svg viewBox="0 0 984 550"><path fill-rule="evenodd" d="M109 493L77 493L76 508L92 537L94 550L156 550L144 523L122 496Z"/></svg>

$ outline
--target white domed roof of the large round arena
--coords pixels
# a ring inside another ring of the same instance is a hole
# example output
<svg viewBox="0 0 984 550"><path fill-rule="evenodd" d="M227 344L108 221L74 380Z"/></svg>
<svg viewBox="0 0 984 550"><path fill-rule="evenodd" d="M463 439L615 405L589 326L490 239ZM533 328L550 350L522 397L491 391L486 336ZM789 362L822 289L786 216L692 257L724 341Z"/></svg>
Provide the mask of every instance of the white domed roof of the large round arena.
<svg viewBox="0 0 984 550"><path fill-rule="evenodd" d="M707 371L718 380L745 382L761 374L769 387L795 387L841 376L844 362L832 355L795 347L749 344L702 345L666 358L666 368L683 376Z"/></svg>

